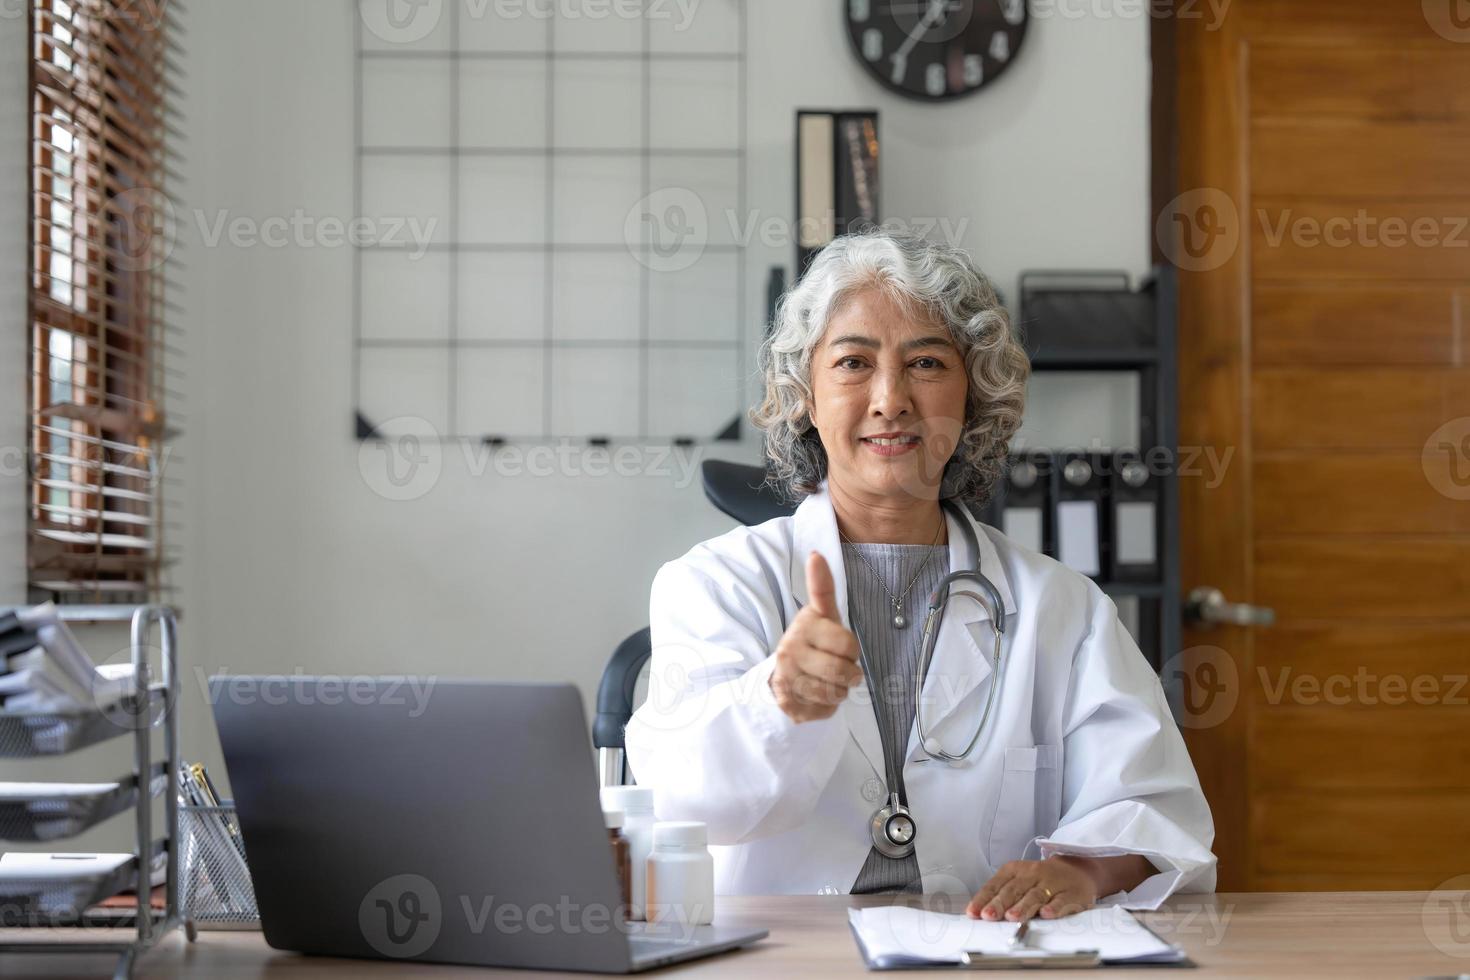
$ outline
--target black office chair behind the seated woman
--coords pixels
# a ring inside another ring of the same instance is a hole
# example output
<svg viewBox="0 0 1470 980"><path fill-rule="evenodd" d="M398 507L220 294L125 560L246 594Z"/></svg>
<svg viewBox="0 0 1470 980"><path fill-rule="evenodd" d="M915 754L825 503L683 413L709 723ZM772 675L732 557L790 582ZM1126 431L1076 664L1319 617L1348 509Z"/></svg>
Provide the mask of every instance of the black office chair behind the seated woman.
<svg viewBox="0 0 1470 980"><path fill-rule="evenodd" d="M700 466L704 495L714 507L745 526L760 525L772 517L795 511L795 504L782 501L764 485L766 470L725 460L706 460ZM617 644L603 680L597 685L597 718L592 721L592 745L597 748L597 774L603 786L629 782L628 758L623 754L623 729L634 717L638 682L653 655L648 627Z"/></svg>

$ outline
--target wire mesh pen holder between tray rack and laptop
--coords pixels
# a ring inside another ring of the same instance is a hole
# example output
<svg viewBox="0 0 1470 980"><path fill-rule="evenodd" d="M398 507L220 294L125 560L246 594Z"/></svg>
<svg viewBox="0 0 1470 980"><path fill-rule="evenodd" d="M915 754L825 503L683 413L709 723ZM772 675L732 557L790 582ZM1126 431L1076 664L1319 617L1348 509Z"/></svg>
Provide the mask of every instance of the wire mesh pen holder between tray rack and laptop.
<svg viewBox="0 0 1470 980"><path fill-rule="evenodd" d="M179 904L201 930L260 929L235 807L179 805Z"/></svg>

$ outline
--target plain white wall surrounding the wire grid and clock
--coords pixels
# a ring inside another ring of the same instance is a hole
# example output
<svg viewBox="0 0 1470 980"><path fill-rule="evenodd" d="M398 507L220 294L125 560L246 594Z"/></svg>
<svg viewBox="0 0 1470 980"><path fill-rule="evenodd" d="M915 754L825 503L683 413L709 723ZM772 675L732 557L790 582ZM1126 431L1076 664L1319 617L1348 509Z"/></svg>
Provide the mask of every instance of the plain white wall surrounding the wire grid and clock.
<svg viewBox="0 0 1470 980"><path fill-rule="evenodd" d="M697 480L475 476L457 451L413 501L363 479L351 254L204 247L190 212L351 215L353 16L348 0L198 0L187 18L176 473L185 745L204 761L218 748L198 677L216 670L573 680L589 702L613 645L645 623L659 564L729 526ZM928 107L866 76L836 3L750 0L747 78L761 215L791 216L797 107L876 107L885 213L967 222L961 244L1010 295L1026 267L1147 266L1142 18L1033 22L992 90ZM791 248L754 242L753 342L772 263L789 266Z"/></svg>

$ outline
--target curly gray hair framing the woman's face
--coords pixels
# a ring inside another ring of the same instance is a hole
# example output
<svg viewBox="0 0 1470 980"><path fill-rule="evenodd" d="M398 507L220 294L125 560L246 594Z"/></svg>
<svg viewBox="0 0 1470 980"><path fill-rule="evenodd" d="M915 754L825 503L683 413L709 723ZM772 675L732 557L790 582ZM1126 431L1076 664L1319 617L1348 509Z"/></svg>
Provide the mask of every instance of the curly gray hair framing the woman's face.
<svg viewBox="0 0 1470 980"><path fill-rule="evenodd" d="M947 328L964 359L970 381L964 430L944 467L939 495L983 504L1020 428L1030 360L995 288L963 250L889 231L833 239L776 307L770 336L760 345L766 397L750 413L766 432L767 483L795 501L826 478L826 450L808 408L811 353L842 304L869 288Z"/></svg>

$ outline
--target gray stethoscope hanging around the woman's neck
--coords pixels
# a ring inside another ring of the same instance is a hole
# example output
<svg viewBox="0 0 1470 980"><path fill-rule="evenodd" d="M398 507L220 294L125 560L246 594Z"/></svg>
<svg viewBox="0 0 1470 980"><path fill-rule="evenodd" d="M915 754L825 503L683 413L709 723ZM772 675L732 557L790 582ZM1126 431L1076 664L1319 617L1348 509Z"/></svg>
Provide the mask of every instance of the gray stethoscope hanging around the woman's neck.
<svg viewBox="0 0 1470 980"><path fill-rule="evenodd" d="M1005 632L1005 608L1001 602L1000 592L995 591L991 580L980 572L980 547L975 536L975 527L970 526L969 516L960 508L958 504L950 500L942 500L939 504L956 516L960 529L964 532L966 544L970 547L970 554L975 555L975 569L951 572L944 576L935 588L933 595L929 597L929 611L923 621L923 644L919 654L917 676L914 677L914 724L919 727L920 751L932 760L954 765L956 763L963 763L979 743L980 733L985 732L985 723L989 721L991 708L995 704L995 692L1001 686L1001 633ZM961 580L969 580L972 585L978 586L983 595L964 589L954 591L953 586ZM975 735L970 736L970 743L966 745L964 751L958 755L944 751L939 739L931 738L923 730L923 680L929 673L929 661L933 660L933 646L939 638L939 626L944 624L944 607L950 601L951 595L964 595L986 607L991 614L991 632L995 638L994 649L991 652L991 660L995 661L995 667L991 677L991 689L985 695L985 711L980 714L980 723L976 726ZM848 589L848 620L853 623L857 621L853 619L851 589ZM853 635L856 636L857 630L853 630ZM867 651L863 649L861 638L857 641L857 651L863 661L863 676L867 679L867 693L873 698L876 711L878 695L873 691L873 671L867 669ZM861 749L861 746L858 748ZM869 764L872 764L872 761L869 761ZM894 760L888 758L886 751L883 752L883 768L888 771L888 779L885 780L883 788L886 802L873 811L873 815L869 818L869 830L873 837L873 846L879 854L888 858L907 858L914 852L914 837L919 836L919 824L914 821L913 813L898 795L897 770L894 768Z"/></svg>

